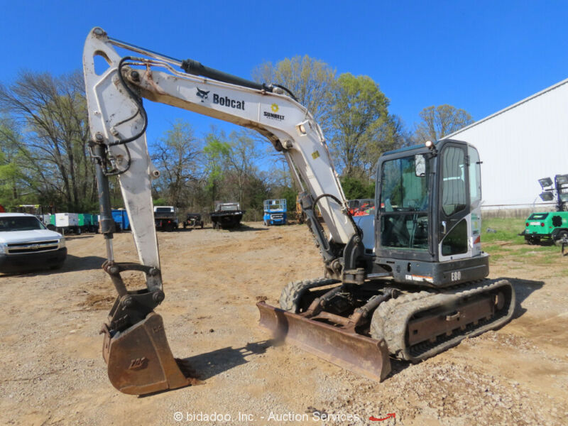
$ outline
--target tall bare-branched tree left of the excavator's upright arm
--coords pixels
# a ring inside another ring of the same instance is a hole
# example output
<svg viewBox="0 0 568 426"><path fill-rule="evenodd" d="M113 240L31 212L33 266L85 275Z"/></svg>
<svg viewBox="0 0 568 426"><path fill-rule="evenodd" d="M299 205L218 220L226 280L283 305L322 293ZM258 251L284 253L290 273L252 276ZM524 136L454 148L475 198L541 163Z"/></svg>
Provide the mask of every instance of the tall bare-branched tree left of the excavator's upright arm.
<svg viewBox="0 0 568 426"><path fill-rule="evenodd" d="M68 209L91 209L97 190L87 154L89 126L80 72L60 77L21 72L9 87L0 84L0 107L23 129L21 155L38 196L47 192Z"/></svg>

